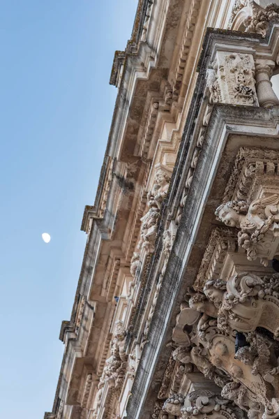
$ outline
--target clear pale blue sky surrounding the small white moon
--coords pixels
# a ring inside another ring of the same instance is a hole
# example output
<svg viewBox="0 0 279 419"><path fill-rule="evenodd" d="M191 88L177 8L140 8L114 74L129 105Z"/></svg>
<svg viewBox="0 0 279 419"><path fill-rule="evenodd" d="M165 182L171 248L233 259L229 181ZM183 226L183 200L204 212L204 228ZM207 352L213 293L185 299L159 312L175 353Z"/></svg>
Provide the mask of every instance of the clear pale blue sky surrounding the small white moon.
<svg viewBox="0 0 279 419"><path fill-rule="evenodd" d="M137 0L2 0L0 417L52 410ZM41 234L52 235L45 244Z"/></svg>

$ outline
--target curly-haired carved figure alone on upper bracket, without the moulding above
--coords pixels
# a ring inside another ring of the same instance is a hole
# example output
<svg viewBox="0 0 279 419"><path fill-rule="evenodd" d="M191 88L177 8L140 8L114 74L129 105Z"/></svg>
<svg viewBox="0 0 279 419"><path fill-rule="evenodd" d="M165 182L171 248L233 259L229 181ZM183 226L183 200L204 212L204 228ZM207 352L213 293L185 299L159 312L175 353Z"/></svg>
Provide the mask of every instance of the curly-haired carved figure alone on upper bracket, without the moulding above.
<svg viewBox="0 0 279 419"><path fill-rule="evenodd" d="M267 266L279 244L279 195L254 200L232 200L220 205L215 212L226 226L240 228L239 245L246 249L248 260L260 258Z"/></svg>

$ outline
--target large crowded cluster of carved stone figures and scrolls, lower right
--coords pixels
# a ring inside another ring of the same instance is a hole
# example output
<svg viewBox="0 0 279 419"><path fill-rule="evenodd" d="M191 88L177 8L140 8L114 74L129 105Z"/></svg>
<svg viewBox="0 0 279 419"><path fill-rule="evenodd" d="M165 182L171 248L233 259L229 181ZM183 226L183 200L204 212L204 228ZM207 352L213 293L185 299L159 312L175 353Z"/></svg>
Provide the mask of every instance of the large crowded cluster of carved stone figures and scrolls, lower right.
<svg viewBox="0 0 279 419"><path fill-rule="evenodd" d="M279 274L210 279L176 318L174 360L195 365L249 418L279 417L278 288ZM179 403L168 400L165 409Z"/></svg>

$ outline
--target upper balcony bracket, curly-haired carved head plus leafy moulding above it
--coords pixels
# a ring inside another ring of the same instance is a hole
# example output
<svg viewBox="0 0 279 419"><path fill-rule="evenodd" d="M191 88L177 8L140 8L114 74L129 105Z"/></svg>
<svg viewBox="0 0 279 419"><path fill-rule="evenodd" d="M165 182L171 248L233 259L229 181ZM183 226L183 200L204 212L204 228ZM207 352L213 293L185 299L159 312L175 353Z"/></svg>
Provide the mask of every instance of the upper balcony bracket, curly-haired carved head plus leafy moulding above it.
<svg viewBox="0 0 279 419"><path fill-rule="evenodd" d="M220 221L240 230L239 245L246 249L248 260L259 258L265 266L279 245L277 168L278 152L240 149L223 204L216 210Z"/></svg>

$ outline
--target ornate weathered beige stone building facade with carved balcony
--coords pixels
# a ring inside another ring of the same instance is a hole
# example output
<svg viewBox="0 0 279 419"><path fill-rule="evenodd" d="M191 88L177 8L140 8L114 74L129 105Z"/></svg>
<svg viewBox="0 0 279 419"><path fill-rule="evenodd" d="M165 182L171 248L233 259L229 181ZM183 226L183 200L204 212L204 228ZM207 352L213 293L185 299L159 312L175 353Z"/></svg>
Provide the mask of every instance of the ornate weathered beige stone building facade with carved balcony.
<svg viewBox="0 0 279 419"><path fill-rule="evenodd" d="M279 418L278 72L279 1L139 1L45 419Z"/></svg>

